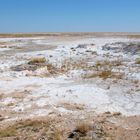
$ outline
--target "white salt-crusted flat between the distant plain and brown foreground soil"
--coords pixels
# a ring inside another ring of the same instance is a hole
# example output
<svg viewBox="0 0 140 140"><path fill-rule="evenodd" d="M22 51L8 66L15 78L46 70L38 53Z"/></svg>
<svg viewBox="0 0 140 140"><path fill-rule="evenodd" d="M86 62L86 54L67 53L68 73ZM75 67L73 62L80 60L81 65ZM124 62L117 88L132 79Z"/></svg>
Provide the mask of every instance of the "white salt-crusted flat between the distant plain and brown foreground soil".
<svg viewBox="0 0 140 140"><path fill-rule="evenodd" d="M140 115L140 46L133 54L128 47L138 45L140 39L126 37L1 38L1 126L52 114ZM46 65L26 69L35 57L45 57ZM25 68L17 71L19 65ZM104 78L103 71L115 75Z"/></svg>

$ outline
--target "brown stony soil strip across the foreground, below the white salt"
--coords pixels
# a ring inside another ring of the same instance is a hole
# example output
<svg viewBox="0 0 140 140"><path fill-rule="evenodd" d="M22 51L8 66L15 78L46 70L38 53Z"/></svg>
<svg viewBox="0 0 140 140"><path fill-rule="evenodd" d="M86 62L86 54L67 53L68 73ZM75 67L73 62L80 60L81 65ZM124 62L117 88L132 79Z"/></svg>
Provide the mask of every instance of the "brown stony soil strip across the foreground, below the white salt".
<svg viewBox="0 0 140 140"><path fill-rule="evenodd" d="M8 127L1 128L0 139L19 137L27 140L139 140L139 117L116 118L116 116L112 116L110 118L106 116L108 114L111 113L106 112L92 118L79 120L82 124L80 126L76 125L77 119L71 116L20 120ZM112 121L110 121L111 119ZM88 123L82 123L83 121Z"/></svg>

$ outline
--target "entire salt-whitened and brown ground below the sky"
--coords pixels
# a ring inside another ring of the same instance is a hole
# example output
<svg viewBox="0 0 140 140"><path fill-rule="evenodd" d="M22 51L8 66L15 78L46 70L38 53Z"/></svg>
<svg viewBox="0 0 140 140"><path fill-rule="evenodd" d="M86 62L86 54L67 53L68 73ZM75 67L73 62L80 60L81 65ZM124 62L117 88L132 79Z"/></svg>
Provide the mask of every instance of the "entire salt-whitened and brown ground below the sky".
<svg viewBox="0 0 140 140"><path fill-rule="evenodd" d="M139 34L0 38L0 139L140 140Z"/></svg>

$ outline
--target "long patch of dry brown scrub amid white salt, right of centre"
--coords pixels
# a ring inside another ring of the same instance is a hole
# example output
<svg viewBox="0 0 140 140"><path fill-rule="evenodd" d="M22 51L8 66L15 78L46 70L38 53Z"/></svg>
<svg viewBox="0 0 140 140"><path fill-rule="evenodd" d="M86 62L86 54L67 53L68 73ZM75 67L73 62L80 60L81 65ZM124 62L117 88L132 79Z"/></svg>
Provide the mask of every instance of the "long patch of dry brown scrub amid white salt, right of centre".
<svg viewBox="0 0 140 140"><path fill-rule="evenodd" d="M114 79L122 79L123 73L120 72L113 72L113 68L117 68L119 70L119 66L122 65L122 62L120 60L114 60L114 61L101 61L97 62L95 66L88 65L87 60L71 60L66 59L61 63L61 66L58 67L53 66L52 64L47 65L49 73L67 73L71 70L83 70L87 72L87 74L84 76L84 78L95 78L100 77L102 79L107 78L114 78ZM88 71L90 71L92 74L88 75Z"/></svg>

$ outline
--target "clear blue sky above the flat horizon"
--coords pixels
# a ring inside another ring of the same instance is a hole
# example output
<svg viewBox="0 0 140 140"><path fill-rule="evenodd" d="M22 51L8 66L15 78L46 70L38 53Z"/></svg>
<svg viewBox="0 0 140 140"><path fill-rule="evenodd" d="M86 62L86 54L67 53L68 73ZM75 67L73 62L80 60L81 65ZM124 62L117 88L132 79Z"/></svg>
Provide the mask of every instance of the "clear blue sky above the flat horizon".
<svg viewBox="0 0 140 140"><path fill-rule="evenodd" d="M140 0L0 0L0 32L140 32Z"/></svg>

